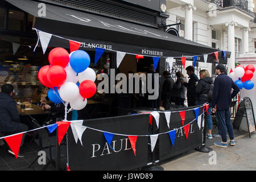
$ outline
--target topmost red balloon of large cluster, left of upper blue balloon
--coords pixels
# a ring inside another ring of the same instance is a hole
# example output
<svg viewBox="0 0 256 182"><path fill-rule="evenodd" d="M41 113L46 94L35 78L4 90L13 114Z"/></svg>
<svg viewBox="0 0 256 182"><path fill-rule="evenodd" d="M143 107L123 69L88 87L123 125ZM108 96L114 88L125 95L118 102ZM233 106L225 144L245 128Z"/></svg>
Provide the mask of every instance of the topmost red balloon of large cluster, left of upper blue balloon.
<svg viewBox="0 0 256 182"><path fill-rule="evenodd" d="M49 64L51 64L52 66L59 65L65 68L69 63L69 53L66 49L57 47L49 52L48 60Z"/></svg>

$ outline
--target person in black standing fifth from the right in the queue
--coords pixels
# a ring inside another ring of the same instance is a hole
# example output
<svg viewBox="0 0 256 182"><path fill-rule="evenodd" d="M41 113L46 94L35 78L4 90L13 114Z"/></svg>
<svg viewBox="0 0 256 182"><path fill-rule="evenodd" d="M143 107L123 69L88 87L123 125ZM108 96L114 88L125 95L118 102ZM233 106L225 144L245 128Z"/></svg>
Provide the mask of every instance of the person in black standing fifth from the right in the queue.
<svg viewBox="0 0 256 182"><path fill-rule="evenodd" d="M162 87L162 97L161 97L161 106L164 107L165 110L169 110L171 107L171 91L174 88L174 79L170 76L171 73L168 71L163 72L163 77L166 78L163 82Z"/></svg>

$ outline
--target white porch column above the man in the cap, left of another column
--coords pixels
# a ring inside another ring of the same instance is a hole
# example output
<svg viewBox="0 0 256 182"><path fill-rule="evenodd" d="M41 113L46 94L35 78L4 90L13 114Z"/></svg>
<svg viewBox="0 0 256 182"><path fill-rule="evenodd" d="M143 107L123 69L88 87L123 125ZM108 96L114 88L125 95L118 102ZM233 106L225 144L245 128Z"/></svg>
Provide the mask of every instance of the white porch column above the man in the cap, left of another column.
<svg viewBox="0 0 256 182"><path fill-rule="evenodd" d="M236 22L229 22L225 25L228 26L228 51L231 52L230 58L228 59L228 73L230 69L234 71L235 68L235 43L234 43L234 26Z"/></svg>

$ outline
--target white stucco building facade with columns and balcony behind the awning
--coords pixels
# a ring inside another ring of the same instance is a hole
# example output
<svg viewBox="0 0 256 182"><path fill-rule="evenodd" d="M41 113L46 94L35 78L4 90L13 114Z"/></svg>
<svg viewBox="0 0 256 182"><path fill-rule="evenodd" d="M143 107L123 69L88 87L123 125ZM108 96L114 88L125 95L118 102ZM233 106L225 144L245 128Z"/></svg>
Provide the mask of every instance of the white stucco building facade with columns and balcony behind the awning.
<svg viewBox="0 0 256 182"><path fill-rule="evenodd" d="M167 0L166 24L181 22L185 39L232 52L228 73L241 54L256 53L256 23L253 0ZM187 61L192 65L192 61ZM187 67L187 65L185 65ZM212 74L212 64L199 63Z"/></svg>

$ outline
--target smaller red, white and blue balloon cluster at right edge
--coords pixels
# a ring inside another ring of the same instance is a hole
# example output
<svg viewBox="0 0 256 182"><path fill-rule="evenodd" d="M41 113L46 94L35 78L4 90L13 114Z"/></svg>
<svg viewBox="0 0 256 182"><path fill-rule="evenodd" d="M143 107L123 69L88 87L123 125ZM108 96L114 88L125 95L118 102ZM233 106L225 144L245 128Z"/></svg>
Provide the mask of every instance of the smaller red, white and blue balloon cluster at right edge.
<svg viewBox="0 0 256 182"><path fill-rule="evenodd" d="M237 65L234 72L229 73L229 77L231 77L232 80L237 84L238 88L250 90L254 87L254 83L251 81L254 71L255 68L251 64L247 65L246 67L243 65Z"/></svg>

